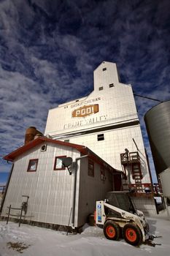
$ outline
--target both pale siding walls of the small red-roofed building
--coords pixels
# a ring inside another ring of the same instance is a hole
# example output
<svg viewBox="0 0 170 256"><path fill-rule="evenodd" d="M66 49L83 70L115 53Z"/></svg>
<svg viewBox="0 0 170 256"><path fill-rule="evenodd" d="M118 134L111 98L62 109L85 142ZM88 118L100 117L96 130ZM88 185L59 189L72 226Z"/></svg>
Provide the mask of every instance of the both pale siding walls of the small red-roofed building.
<svg viewBox="0 0 170 256"><path fill-rule="evenodd" d="M28 195L28 211L26 218L31 221L68 225L74 195L74 171L72 176L68 170L53 170L55 157L66 155L73 161L80 157L80 152L66 146L47 143L47 150L41 151L42 145L15 160L11 181L7 190L2 216L7 214L7 207L20 208L22 195ZM30 159L39 159L35 172L27 172ZM101 181L101 167L95 163L95 176L88 176L88 158L78 161L77 186L75 200L74 226L85 223L88 214L95 210L96 200L104 199L112 190L109 173L106 180ZM20 215L20 211L11 211Z"/></svg>

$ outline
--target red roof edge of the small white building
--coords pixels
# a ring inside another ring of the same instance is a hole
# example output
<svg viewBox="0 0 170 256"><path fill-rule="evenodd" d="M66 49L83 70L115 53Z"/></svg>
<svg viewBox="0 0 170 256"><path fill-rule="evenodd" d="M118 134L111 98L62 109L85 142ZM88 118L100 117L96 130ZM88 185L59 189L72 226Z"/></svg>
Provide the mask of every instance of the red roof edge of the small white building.
<svg viewBox="0 0 170 256"><path fill-rule="evenodd" d="M47 142L57 144L57 145L67 146L70 148L76 148L77 151L80 151L80 153L82 153L84 155L88 154L88 156L91 159L93 159L95 162L98 162L99 164L104 165L105 167L109 168L110 170L113 170L114 172L120 173L120 171L115 170L115 168L113 168L111 165L107 164L107 162L105 162L103 159L98 157L98 155L96 155L93 151L91 151L89 148L87 148L85 146L81 146L81 145L74 144L74 143L63 142L61 140L52 140L52 139L49 139L46 137L39 137L36 140L31 140L31 142L27 143L26 145L16 149L15 151L13 151L10 154L7 154L7 156L5 156L4 159L7 161L13 162L13 160L16 157L19 157L21 154L25 153L29 149L34 148L35 146L37 146L41 143L47 143Z"/></svg>

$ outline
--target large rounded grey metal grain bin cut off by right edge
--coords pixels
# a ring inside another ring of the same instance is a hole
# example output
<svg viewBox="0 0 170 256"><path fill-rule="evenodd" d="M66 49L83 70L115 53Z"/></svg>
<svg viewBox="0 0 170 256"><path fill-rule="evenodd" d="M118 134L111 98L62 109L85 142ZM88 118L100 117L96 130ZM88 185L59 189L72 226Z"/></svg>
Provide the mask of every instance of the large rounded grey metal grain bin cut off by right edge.
<svg viewBox="0 0 170 256"><path fill-rule="evenodd" d="M144 116L157 175L170 166L170 101L161 102Z"/></svg>

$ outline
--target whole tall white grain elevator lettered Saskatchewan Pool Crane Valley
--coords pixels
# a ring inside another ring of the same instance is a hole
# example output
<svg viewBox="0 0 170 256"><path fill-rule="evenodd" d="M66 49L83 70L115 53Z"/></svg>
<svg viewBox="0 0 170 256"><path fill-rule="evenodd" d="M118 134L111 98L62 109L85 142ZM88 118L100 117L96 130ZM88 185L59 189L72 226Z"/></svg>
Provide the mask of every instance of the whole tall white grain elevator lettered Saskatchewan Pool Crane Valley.
<svg viewBox="0 0 170 256"><path fill-rule="evenodd" d="M94 70L93 80L87 97L49 110L45 135L88 146L123 170L128 187L142 192L152 181L131 85L121 83L116 64L107 61Z"/></svg>

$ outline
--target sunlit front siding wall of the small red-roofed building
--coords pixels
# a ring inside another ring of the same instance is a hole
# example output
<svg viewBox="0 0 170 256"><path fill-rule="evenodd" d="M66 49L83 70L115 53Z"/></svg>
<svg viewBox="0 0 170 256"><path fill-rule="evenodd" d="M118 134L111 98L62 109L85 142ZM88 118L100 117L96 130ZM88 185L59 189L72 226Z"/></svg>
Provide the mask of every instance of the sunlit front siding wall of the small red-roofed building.
<svg viewBox="0 0 170 256"><path fill-rule="evenodd" d="M42 145L41 145L42 146ZM7 213L7 206L19 208L22 195L28 195L26 219L68 225L72 207L74 176L68 170L53 170L55 157L80 157L74 148L47 145L47 151L41 152L41 146L31 149L15 161L12 178L7 191L2 215ZM39 159L36 172L28 173L29 159ZM77 178L79 182L79 178ZM24 199L25 200L25 199ZM19 211L13 211L19 214Z"/></svg>

